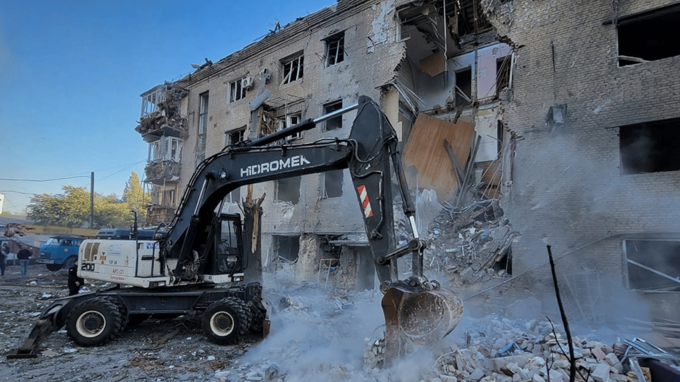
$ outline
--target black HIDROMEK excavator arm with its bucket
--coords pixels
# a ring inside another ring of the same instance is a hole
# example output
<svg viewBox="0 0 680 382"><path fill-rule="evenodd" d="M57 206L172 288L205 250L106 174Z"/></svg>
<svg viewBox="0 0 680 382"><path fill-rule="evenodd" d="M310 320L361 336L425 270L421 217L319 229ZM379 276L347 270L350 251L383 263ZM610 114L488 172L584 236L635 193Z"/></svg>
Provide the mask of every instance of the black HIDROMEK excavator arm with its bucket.
<svg viewBox="0 0 680 382"><path fill-rule="evenodd" d="M347 111L357 109L347 139L322 139L308 144L281 144L280 139ZM462 302L452 291L423 275L423 249L415 226L415 209L406 184L397 135L378 105L368 97L358 103L313 120L305 120L272 135L226 148L204 160L186 188L182 205L171 224L164 256L177 258L175 282L193 273L201 237L209 229L224 197L237 187L297 175L349 169L364 220L375 271L384 293L386 360L413 348L433 343L460 321ZM397 247L392 209L392 174L401 193L403 212L412 239ZM411 256L411 276L399 279L397 260Z"/></svg>

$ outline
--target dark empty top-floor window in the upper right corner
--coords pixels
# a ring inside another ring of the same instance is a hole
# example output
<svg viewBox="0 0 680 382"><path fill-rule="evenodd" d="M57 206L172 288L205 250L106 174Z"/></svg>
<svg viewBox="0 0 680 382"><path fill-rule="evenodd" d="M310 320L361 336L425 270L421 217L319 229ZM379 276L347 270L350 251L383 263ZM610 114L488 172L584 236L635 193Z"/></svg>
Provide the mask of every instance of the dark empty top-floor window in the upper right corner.
<svg viewBox="0 0 680 382"><path fill-rule="evenodd" d="M619 19L619 66L680 55L679 19L678 4Z"/></svg>

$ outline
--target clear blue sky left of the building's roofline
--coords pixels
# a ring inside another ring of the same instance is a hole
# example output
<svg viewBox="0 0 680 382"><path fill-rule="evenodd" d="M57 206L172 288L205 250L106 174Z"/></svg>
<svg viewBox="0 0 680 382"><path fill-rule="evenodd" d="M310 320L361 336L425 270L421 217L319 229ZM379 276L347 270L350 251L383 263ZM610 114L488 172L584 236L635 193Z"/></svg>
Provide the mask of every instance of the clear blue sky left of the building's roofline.
<svg viewBox="0 0 680 382"><path fill-rule="evenodd" d="M143 179L139 94L216 62L335 0L0 1L3 210L62 186L122 195ZM23 192L25 194L21 194Z"/></svg>

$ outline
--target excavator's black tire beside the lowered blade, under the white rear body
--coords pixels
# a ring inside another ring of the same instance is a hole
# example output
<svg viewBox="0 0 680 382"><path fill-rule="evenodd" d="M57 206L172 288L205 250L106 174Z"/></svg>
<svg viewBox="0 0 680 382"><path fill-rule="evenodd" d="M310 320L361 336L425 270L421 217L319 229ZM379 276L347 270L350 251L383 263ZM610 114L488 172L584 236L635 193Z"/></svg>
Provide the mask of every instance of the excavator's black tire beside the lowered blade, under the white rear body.
<svg viewBox="0 0 680 382"><path fill-rule="evenodd" d="M103 296L78 303L66 317L66 333L80 346L104 345L120 333L121 328L118 307Z"/></svg>

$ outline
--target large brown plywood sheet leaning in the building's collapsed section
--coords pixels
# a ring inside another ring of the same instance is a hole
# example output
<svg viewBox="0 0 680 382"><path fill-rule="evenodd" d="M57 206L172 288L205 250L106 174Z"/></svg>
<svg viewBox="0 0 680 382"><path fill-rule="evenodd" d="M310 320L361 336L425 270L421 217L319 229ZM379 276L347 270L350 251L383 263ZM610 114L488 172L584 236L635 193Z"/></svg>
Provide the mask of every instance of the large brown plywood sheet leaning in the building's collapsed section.
<svg viewBox="0 0 680 382"><path fill-rule="evenodd" d="M454 149L460 169L464 169L474 138L475 129L468 122L458 120L457 124L453 124L419 114L403 156L407 167L411 165L418 171L418 185L409 179L409 186L436 190L440 203L452 201L458 190L458 181L454 165L444 148L444 139Z"/></svg>

